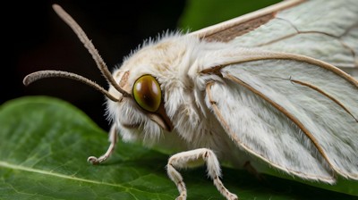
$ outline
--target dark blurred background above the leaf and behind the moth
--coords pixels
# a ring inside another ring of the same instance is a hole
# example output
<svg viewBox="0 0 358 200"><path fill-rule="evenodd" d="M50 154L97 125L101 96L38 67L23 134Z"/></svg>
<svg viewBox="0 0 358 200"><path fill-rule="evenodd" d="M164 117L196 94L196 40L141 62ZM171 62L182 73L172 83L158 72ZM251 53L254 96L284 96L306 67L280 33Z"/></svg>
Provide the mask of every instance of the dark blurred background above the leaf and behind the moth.
<svg viewBox="0 0 358 200"><path fill-rule="evenodd" d="M60 4L85 30L110 68L122 63L142 41L163 31L204 28L278 0L157 0L157 1L10 1L3 5L3 59L0 104L21 96L54 96L86 112L102 129L109 129L105 97L71 79L41 79L22 85L39 70L78 73L107 88L90 54L72 30L52 10Z"/></svg>

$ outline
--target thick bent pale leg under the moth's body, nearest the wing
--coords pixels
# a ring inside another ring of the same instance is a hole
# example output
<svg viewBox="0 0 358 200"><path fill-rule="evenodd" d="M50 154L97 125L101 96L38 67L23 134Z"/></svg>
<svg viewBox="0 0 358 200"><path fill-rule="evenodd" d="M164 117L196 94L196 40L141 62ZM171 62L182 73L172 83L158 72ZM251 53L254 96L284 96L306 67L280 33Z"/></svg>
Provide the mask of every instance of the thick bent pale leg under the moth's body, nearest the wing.
<svg viewBox="0 0 358 200"><path fill-rule="evenodd" d="M192 168L204 163L207 165L208 175L211 179L213 179L217 190L223 196L225 196L226 199L237 200L237 196L229 192L229 190L224 187L224 184L219 179L221 176L221 169L219 162L217 161L217 155L207 148L194 149L191 151L174 154L169 158L169 161L166 165L166 172L169 178L175 182L175 185L179 190L180 195L176 199L185 200L187 196L183 177L177 171L177 169Z"/></svg>

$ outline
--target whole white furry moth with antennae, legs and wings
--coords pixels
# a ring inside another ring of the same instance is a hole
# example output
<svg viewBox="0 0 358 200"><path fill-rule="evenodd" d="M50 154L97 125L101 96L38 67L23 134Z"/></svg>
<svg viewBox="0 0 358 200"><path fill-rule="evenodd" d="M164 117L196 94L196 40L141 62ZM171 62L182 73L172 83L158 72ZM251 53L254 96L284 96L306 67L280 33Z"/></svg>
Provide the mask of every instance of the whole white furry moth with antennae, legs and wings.
<svg viewBox="0 0 358 200"><path fill-rule="evenodd" d="M54 9L110 87L64 71L34 72L24 84L64 77L107 96L111 144L89 162L104 162L119 135L179 152L166 165L177 199L187 196L178 170L203 164L217 190L237 199L219 179L219 161L358 196L358 1L285 1L165 34L113 73L71 16Z"/></svg>

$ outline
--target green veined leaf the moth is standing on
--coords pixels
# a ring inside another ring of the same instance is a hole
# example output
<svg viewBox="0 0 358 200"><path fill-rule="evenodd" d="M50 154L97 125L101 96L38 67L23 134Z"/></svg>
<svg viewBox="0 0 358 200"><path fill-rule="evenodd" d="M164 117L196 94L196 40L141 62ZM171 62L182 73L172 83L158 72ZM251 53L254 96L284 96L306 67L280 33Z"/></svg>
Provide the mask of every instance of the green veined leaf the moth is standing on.
<svg viewBox="0 0 358 200"><path fill-rule="evenodd" d="M0 199L175 199L166 177L168 155L119 142L101 165L86 160L107 150L107 133L80 110L44 96L0 107ZM223 168L224 183L241 199L354 199L354 196ZM188 199L223 199L205 168L183 171ZM310 190L307 193L307 190Z"/></svg>

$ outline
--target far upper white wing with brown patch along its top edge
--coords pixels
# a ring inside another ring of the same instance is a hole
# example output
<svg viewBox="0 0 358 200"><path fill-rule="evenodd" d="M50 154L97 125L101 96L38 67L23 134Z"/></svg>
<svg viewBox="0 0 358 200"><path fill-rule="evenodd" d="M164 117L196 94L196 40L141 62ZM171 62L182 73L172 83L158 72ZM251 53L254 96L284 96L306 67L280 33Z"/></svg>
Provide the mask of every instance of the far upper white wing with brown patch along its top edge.
<svg viewBox="0 0 358 200"><path fill-rule="evenodd" d="M307 55L358 77L358 1L285 1L192 33L236 46Z"/></svg>

